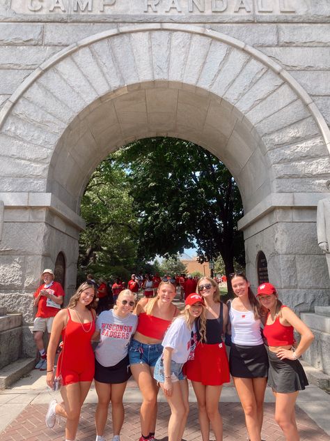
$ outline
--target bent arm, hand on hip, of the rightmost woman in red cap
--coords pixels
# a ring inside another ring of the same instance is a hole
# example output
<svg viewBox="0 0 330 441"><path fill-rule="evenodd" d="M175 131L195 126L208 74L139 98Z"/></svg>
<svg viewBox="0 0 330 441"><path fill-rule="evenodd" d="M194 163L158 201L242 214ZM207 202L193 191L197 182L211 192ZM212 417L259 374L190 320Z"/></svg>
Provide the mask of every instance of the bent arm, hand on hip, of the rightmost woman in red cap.
<svg viewBox="0 0 330 441"><path fill-rule="evenodd" d="M301 339L297 348L292 352L291 350L280 349L277 352L277 356L283 360L285 358L290 360L296 360L311 346L314 335L311 329L308 328L304 322L302 322L299 317L288 307L282 308L282 317L285 322L288 322L294 327L296 331L301 335Z"/></svg>

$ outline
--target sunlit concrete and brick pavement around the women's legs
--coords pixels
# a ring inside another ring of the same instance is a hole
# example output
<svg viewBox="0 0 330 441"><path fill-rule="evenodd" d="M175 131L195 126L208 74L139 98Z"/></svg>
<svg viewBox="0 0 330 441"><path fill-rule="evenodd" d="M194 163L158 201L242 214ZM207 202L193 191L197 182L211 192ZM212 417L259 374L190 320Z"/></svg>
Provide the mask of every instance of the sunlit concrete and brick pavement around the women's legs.
<svg viewBox="0 0 330 441"><path fill-rule="evenodd" d="M45 372L31 371L13 387L0 392L0 439L18 440L64 440L64 421L53 429L46 428L45 414L52 398L58 393L49 392L45 387ZM122 441L136 441L140 435L139 405L141 394L134 380L129 380L125 391L125 423L121 433ZM190 413L184 440L201 440L198 425L196 398L192 389L189 401ZM97 396L92 385L84 404L77 440L95 440L94 414ZM244 416L237 394L232 384L223 387L220 403L223 415L223 440L246 440ZM330 441L330 396L315 386L309 386L299 394L297 400L297 423L301 440ZM157 419L157 440L166 440L169 410L162 392L159 393ZM111 411L106 428L107 440L111 440ZM212 437L212 435L211 435ZM284 441L280 428L274 421L274 398L269 388L266 391L265 418L262 438L267 441Z"/></svg>

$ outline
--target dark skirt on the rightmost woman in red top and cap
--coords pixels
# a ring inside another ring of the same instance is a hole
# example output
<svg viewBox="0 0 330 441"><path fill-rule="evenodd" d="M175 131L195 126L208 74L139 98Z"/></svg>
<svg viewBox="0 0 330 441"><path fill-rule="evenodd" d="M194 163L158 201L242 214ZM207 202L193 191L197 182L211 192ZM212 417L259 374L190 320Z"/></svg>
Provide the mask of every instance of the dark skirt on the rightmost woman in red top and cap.
<svg viewBox="0 0 330 441"><path fill-rule="evenodd" d="M303 391L308 386L304 368L298 360L279 359L275 352L268 350L268 384L280 394Z"/></svg>

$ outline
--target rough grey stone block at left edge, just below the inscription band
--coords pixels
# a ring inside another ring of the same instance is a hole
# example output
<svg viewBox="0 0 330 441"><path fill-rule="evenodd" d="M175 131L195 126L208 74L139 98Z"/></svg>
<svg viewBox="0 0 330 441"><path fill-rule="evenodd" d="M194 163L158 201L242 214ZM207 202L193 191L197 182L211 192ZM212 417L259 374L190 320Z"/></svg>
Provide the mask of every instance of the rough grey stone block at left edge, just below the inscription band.
<svg viewBox="0 0 330 441"><path fill-rule="evenodd" d="M0 45L42 45L42 24L0 23Z"/></svg>

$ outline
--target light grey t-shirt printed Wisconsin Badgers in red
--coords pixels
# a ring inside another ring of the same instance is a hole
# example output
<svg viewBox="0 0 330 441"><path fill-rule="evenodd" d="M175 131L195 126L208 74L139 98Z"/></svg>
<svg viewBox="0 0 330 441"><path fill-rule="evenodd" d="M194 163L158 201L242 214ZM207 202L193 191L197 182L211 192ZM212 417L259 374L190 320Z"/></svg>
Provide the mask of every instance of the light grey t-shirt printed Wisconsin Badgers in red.
<svg viewBox="0 0 330 441"><path fill-rule="evenodd" d="M138 317L131 313L125 318L118 317L113 309L100 313L96 320L100 343L95 349L95 358L102 366L115 366L126 357L137 322Z"/></svg>

